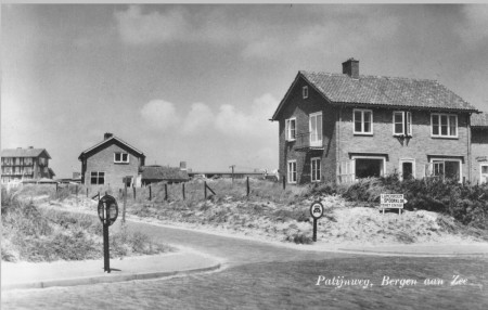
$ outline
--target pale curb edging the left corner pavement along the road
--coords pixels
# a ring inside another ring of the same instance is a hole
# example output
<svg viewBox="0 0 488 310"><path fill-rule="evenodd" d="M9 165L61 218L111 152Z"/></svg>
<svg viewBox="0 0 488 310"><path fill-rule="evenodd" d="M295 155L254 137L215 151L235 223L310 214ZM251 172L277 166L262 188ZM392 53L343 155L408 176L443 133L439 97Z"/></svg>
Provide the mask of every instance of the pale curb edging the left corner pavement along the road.
<svg viewBox="0 0 488 310"><path fill-rule="evenodd" d="M49 280L40 282L30 283L14 283L14 284L2 284L2 290L10 289L31 289L31 288L47 288L54 286L78 286L78 285L89 285L89 284L100 284L100 283L114 283L114 282L127 282L133 280L150 280L150 279L163 279L176 275L188 275L200 272L215 271L221 268L220 263L195 269L177 270L177 271L157 271L157 272L145 272L145 273L131 273L131 274L119 274L112 275L105 274L100 276L89 276L89 277L76 277L76 279L60 279L60 280Z"/></svg>

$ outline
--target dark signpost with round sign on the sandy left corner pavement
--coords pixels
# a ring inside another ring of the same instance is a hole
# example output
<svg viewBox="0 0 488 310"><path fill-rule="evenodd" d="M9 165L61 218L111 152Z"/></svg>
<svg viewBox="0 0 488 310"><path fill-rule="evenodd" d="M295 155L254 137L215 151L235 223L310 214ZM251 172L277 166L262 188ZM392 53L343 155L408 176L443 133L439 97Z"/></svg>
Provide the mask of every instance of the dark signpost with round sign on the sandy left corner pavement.
<svg viewBox="0 0 488 310"><path fill-rule="evenodd" d="M103 270L111 273L108 227L112 225L118 216L118 206L115 198L105 195L99 201L99 218L103 223Z"/></svg>

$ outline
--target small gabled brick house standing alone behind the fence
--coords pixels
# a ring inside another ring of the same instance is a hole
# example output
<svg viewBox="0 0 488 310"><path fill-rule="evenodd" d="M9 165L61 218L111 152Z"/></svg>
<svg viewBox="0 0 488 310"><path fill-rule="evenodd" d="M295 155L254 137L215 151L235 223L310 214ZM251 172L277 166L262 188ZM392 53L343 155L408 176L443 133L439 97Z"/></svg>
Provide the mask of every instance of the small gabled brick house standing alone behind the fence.
<svg viewBox="0 0 488 310"><path fill-rule="evenodd" d="M81 152L81 184L140 186L140 168L145 155L120 138L105 133L102 142Z"/></svg>

